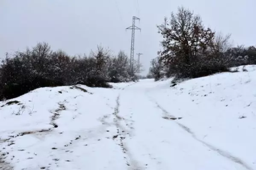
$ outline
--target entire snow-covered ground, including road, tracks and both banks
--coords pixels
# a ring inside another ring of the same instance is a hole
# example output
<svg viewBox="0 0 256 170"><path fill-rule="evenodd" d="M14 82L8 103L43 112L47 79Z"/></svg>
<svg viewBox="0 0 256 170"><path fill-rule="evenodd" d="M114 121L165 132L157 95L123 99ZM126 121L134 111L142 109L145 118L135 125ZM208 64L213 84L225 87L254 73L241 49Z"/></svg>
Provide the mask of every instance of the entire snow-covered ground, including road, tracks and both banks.
<svg viewBox="0 0 256 170"><path fill-rule="evenodd" d="M256 68L245 68L0 102L0 170L256 170Z"/></svg>

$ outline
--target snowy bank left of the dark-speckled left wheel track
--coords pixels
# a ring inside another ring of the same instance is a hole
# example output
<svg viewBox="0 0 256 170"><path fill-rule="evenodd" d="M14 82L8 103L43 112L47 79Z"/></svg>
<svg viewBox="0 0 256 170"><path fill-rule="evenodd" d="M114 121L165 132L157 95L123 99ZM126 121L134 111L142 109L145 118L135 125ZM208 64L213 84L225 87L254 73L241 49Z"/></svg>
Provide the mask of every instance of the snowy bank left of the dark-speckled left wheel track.
<svg viewBox="0 0 256 170"><path fill-rule="evenodd" d="M124 169L112 142L116 96L115 89L77 86L39 88L11 100L18 103L1 102L0 167Z"/></svg>

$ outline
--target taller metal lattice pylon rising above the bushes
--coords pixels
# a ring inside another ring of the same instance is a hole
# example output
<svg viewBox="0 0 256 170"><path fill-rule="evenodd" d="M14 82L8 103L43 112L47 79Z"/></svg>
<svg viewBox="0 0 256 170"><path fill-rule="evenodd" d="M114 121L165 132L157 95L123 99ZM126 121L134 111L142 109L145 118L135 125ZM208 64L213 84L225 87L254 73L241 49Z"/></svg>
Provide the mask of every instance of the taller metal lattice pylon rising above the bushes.
<svg viewBox="0 0 256 170"><path fill-rule="evenodd" d="M141 30L141 28L138 28L135 26L135 20L140 20L138 17L132 17L132 26L126 28L132 30L132 41L131 41L131 54L130 54L130 71L133 74L133 59L134 59L134 37L135 37L135 30Z"/></svg>

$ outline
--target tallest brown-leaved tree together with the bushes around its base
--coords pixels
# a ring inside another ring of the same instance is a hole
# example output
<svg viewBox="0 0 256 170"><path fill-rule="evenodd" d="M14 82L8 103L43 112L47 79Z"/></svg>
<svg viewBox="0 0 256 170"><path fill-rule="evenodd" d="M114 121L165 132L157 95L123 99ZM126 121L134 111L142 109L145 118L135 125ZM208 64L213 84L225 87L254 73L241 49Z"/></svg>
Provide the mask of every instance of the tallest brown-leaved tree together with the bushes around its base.
<svg viewBox="0 0 256 170"><path fill-rule="evenodd" d="M158 26L162 34L160 60L168 74L178 78L202 77L229 71L224 52L230 47L230 35L223 36L205 28L199 15L179 7L177 14Z"/></svg>

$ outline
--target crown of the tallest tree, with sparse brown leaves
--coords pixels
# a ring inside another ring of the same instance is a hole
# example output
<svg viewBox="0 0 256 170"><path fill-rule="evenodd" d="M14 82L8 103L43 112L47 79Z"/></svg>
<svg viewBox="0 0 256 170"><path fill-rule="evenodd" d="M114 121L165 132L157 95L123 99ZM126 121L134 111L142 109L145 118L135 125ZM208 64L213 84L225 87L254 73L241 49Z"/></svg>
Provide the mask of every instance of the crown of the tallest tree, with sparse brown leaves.
<svg viewBox="0 0 256 170"><path fill-rule="evenodd" d="M176 57L191 65L214 38L211 29L204 28L201 17L184 7L179 7L177 14L172 13L170 21L165 17L164 23L157 27L164 39L161 42L163 51L159 51L160 59L167 65Z"/></svg>

